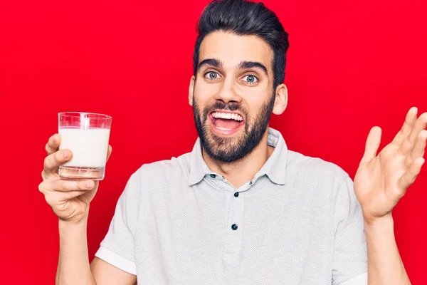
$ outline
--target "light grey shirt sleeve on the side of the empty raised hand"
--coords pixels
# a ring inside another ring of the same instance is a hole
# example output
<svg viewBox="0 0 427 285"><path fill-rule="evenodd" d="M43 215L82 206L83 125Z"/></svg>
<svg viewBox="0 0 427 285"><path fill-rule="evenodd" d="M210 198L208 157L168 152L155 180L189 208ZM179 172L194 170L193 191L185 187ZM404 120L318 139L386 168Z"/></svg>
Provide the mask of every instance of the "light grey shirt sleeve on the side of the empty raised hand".
<svg viewBox="0 0 427 285"><path fill-rule="evenodd" d="M337 285L368 271L362 207L354 194L350 177L347 177L339 187L334 211L332 285ZM358 285L365 284L367 283L362 282Z"/></svg>

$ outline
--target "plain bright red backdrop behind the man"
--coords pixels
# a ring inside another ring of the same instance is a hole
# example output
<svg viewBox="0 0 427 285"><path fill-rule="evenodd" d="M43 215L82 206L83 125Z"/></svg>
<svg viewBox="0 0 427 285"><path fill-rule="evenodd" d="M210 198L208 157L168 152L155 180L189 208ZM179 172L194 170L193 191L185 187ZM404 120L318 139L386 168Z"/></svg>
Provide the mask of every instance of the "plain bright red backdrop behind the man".
<svg viewBox="0 0 427 285"><path fill-rule="evenodd" d="M112 115L114 148L90 209L90 259L143 163L191 151L188 83L208 1L1 1L0 284L53 284L57 219L38 192L57 113ZM290 33L291 150L354 177L373 125L388 143L412 105L427 111L426 1L266 1ZM412 284L427 284L427 170L394 210Z"/></svg>

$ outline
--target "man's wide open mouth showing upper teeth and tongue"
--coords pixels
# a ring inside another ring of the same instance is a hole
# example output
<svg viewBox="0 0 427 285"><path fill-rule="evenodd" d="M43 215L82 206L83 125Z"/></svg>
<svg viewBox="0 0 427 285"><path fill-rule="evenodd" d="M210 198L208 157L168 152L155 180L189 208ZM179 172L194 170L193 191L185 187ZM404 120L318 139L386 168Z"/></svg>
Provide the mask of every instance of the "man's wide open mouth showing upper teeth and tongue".
<svg viewBox="0 0 427 285"><path fill-rule="evenodd" d="M211 120L211 129L217 135L232 135L245 125L242 115L229 111L211 112L209 120Z"/></svg>

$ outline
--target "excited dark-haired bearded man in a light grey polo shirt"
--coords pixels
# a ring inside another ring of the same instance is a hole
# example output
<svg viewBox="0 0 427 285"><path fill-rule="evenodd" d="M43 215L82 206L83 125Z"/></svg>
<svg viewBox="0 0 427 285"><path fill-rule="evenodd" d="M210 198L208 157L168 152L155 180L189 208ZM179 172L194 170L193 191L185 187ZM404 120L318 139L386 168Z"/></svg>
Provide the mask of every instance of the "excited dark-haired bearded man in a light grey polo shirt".
<svg viewBox="0 0 427 285"><path fill-rule="evenodd" d="M391 210L423 165L427 113L411 108L379 155L372 128L353 187L337 165L288 150L268 128L288 101L287 49L263 4L206 7L189 86L199 139L130 177L91 264L97 183L61 180L72 154L49 139L39 189L59 217L57 284L410 284Z"/></svg>

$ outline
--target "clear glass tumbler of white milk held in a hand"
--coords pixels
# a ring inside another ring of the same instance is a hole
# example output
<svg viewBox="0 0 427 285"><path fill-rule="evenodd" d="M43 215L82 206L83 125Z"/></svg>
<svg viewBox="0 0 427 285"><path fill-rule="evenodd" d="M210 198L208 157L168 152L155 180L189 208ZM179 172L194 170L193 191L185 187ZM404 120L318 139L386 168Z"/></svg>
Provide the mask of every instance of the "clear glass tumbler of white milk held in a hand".
<svg viewBox="0 0 427 285"><path fill-rule="evenodd" d="M58 113L59 149L73 152L71 160L60 165L60 177L104 179L111 119L96 113Z"/></svg>

